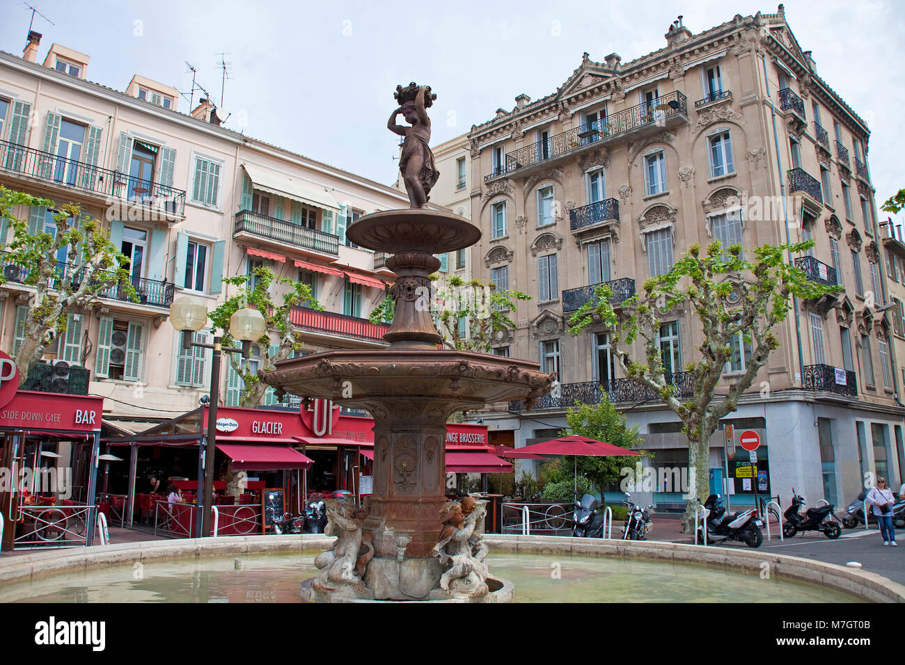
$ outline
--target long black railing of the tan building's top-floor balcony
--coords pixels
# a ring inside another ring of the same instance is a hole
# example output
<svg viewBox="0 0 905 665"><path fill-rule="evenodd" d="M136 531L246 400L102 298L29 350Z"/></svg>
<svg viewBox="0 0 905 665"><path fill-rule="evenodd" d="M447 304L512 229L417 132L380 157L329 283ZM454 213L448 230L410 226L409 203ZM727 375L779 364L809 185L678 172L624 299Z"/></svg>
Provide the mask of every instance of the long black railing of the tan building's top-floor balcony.
<svg viewBox="0 0 905 665"><path fill-rule="evenodd" d="M688 119L688 100L680 91L674 90L658 97L650 104L638 104L597 122L571 128L546 141L520 147L506 155L506 166L495 168L484 179L513 173L519 168L566 155L578 148L592 145L595 141L618 137L633 129L662 127L666 119L677 116Z"/></svg>

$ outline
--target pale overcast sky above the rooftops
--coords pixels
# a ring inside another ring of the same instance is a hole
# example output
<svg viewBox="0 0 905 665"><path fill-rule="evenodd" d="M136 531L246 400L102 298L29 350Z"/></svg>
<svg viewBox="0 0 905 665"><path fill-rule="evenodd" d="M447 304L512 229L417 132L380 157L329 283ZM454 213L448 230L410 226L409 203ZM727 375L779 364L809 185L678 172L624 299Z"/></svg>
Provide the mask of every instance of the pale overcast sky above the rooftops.
<svg viewBox="0 0 905 665"><path fill-rule="evenodd" d="M220 106L228 52L229 128L382 183L396 177L397 138L386 130L393 90L409 81L437 94L436 144L561 85L582 52L623 62L665 44L678 14L692 33L742 15L776 12L776 1L641 2L195 2L30 0L53 25L39 62L58 42L90 55L91 81L123 90L134 73L191 89L186 61ZM824 81L871 129L869 160L878 205L905 187L898 161L905 92L905 3L787 0L786 20ZM21 55L31 11L0 0L0 49ZM197 100L197 94L195 95ZM189 110L186 100L180 110ZM810 119L810 111L808 112ZM831 130L832 131L832 130ZM905 221L900 215L899 221Z"/></svg>

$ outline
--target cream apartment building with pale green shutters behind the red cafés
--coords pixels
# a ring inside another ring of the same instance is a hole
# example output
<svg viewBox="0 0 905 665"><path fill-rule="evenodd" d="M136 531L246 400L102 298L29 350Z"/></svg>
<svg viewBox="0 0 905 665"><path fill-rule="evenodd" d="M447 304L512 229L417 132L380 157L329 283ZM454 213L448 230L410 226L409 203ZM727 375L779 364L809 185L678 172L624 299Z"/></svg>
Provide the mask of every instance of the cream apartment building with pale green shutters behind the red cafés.
<svg viewBox="0 0 905 665"><path fill-rule="evenodd" d="M91 82L89 56L59 44L38 64L40 40L30 33L23 57L0 52L0 184L102 220L138 301L117 286L70 312L30 385L103 396L113 432L194 409L209 391L210 352L180 349L170 305L192 295L214 309L233 293L225 277L260 264L308 283L325 308L293 310L303 353L384 346L386 326L367 315L394 275L345 231L404 207L405 195L224 128L209 100L180 112L178 92L147 77L124 91ZM52 210L16 214L32 232L55 232ZM2 262L0 348L15 353L33 288L23 267ZM223 404L238 404L239 376L222 376Z"/></svg>

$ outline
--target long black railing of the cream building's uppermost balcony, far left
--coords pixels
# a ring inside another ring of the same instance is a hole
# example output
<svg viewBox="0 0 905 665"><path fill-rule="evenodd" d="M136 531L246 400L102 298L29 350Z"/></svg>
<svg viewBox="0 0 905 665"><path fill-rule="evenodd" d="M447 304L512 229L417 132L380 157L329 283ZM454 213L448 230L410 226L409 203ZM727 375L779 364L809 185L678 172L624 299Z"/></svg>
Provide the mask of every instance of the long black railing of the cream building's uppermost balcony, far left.
<svg viewBox="0 0 905 665"><path fill-rule="evenodd" d="M181 189L9 141L0 141L0 170L156 208L163 214L182 216L186 211L186 192Z"/></svg>

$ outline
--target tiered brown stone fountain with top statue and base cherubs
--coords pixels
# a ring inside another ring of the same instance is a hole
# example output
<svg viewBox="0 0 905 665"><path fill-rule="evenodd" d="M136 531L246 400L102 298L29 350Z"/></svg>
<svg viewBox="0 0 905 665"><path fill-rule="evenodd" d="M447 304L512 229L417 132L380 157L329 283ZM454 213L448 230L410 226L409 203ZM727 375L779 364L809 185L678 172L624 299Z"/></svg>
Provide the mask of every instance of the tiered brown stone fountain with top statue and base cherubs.
<svg viewBox="0 0 905 665"><path fill-rule="evenodd" d="M395 97L400 108L388 127L405 136L400 169L412 207L365 215L346 232L361 247L392 254L389 347L292 358L262 373L278 394L364 409L375 423L369 504L339 500L329 508L338 539L318 556L320 573L302 584L302 598L493 602L504 584L489 577L483 562L484 502L444 496L446 422L456 411L536 399L554 377L527 360L440 348L430 311L430 275L440 268L433 255L470 247L481 232L460 216L425 207L439 176L425 112L436 95L412 83ZM399 113L411 127L394 124Z"/></svg>

